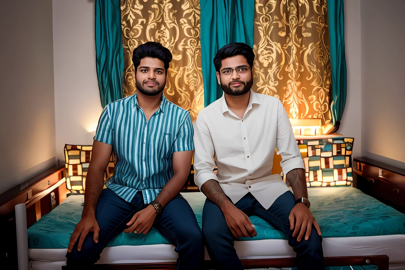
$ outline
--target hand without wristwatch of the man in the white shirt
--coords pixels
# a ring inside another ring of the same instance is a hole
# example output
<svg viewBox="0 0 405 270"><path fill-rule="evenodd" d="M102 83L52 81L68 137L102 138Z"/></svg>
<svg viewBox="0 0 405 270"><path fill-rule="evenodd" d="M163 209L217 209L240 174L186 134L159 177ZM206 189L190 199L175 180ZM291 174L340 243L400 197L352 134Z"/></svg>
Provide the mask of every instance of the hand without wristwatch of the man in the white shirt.
<svg viewBox="0 0 405 270"><path fill-rule="evenodd" d="M252 221L239 210L229 200L221 207L224 213L226 224L234 237L253 237L256 236L256 230L252 227Z"/></svg>

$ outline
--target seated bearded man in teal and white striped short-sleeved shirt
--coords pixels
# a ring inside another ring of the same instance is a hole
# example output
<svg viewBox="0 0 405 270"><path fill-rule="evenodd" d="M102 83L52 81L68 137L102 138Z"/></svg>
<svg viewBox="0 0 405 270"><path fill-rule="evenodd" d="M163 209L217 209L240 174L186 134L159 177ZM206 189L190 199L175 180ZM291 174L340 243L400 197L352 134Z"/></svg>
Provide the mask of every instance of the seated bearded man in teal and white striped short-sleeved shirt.
<svg viewBox="0 0 405 270"><path fill-rule="evenodd" d="M91 266L112 237L122 231L146 234L151 227L175 245L177 269L198 268L202 233L190 205L179 195L190 173L193 127L190 114L162 94L171 60L160 43L137 47L132 56L136 93L104 108L87 172L82 219L70 238L64 269ZM111 151L118 161L103 189Z"/></svg>

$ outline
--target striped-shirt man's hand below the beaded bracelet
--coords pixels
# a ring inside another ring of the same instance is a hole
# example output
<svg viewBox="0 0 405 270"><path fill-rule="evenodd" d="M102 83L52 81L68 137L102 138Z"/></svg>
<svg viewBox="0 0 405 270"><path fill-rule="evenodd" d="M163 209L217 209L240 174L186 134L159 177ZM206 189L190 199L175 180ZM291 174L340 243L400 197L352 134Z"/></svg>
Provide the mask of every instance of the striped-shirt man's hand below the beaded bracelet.
<svg viewBox="0 0 405 270"><path fill-rule="evenodd" d="M149 204L145 209L135 213L130 222L127 223L128 226L131 224L132 226L124 230L124 232L128 234L136 230L138 234L146 234L151 229L156 215L155 208Z"/></svg>

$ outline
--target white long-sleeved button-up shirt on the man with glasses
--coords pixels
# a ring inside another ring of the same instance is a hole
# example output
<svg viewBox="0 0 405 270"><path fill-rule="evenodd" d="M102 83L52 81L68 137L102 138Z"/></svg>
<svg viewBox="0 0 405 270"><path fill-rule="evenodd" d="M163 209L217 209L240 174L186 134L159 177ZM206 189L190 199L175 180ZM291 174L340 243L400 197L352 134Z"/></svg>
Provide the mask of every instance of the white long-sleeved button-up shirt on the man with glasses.
<svg viewBox="0 0 405 270"><path fill-rule="evenodd" d="M280 100L252 90L242 119L229 110L225 96L198 113L194 149L194 180L200 189L213 179L233 203L250 192L266 209L290 190L280 174L271 174L274 149L282 157L284 175L305 168Z"/></svg>

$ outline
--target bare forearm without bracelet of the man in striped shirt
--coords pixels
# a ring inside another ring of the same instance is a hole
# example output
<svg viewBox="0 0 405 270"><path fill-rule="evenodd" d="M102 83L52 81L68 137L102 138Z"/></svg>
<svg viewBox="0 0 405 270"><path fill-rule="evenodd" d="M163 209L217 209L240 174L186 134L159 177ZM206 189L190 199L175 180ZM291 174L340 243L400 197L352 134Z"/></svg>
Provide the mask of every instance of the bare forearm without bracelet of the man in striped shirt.
<svg viewBox="0 0 405 270"><path fill-rule="evenodd" d="M90 171L87 175L83 215L93 215L96 213L98 198L104 186L104 172L101 174Z"/></svg>

